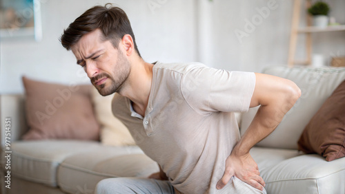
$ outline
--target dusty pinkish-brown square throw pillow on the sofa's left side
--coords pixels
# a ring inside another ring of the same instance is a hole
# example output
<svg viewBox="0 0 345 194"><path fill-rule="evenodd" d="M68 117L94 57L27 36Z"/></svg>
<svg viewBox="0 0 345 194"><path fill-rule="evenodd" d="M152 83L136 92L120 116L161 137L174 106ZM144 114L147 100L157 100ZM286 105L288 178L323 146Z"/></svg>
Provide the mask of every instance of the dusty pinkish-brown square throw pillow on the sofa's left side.
<svg viewBox="0 0 345 194"><path fill-rule="evenodd" d="M91 85L59 85L23 77L29 131L23 140L99 140Z"/></svg>

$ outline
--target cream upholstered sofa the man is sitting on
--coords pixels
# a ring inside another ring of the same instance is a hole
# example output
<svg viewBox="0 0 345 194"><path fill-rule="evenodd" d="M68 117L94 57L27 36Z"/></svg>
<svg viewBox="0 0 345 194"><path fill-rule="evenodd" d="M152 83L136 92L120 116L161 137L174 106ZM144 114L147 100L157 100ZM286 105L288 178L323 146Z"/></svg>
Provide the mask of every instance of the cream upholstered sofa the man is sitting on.
<svg viewBox="0 0 345 194"><path fill-rule="evenodd" d="M320 154L300 151L297 144L313 116L345 80L345 68L273 66L263 73L293 80L302 89L301 98L277 129L250 150L267 193L345 193L345 158L328 162ZM159 166L135 145L109 146L97 140L21 140L28 131L25 98L24 94L0 97L1 193L94 193L97 183L108 177L148 177L159 171ZM257 109L237 114L241 133ZM6 158L6 118L11 119L10 160ZM344 150L344 144L339 147ZM10 188L6 188L8 161Z"/></svg>

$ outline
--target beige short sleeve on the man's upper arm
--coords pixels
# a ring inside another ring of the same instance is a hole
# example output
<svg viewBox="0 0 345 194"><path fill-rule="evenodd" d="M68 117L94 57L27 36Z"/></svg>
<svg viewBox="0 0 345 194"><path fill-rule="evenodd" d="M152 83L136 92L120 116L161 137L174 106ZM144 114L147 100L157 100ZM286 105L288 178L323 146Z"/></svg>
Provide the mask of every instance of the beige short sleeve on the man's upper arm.
<svg viewBox="0 0 345 194"><path fill-rule="evenodd" d="M253 72L229 72L197 67L184 74L181 91L200 114L210 111L248 111L255 88Z"/></svg>

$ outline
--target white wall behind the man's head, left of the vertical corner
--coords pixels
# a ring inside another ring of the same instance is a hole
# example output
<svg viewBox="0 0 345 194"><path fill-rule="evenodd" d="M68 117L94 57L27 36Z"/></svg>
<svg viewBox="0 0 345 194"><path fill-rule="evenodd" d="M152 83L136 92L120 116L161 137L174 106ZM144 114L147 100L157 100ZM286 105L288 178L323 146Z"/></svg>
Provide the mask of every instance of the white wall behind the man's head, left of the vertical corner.
<svg viewBox="0 0 345 194"><path fill-rule="evenodd" d="M141 56L154 61L197 61L194 1L111 1L123 8L131 21ZM89 83L75 56L59 42L63 29L80 14L108 1L43 0L43 39L1 40L0 93L23 92L21 76L55 83ZM163 3L162 3L163 2ZM183 5L183 6L181 6ZM163 49L164 48L164 49Z"/></svg>

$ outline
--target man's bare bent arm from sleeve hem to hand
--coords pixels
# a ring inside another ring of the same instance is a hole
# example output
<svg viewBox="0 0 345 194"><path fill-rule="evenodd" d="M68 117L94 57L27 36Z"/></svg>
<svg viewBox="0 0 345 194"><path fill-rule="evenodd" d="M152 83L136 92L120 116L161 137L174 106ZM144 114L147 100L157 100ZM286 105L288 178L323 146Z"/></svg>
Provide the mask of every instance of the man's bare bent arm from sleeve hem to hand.
<svg viewBox="0 0 345 194"><path fill-rule="evenodd" d="M256 83L250 107L261 107L244 136L226 159L226 169L217 183L218 189L223 188L233 175L259 190L264 189L265 182L260 177L257 164L249 151L279 125L284 115L301 96L299 87L290 80L266 74L255 76Z"/></svg>

